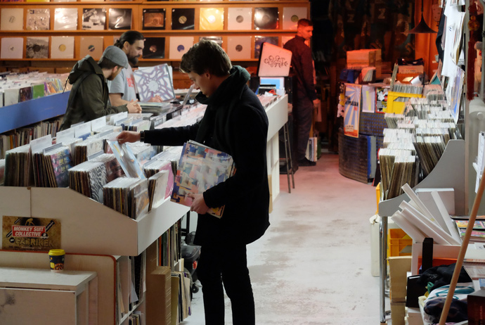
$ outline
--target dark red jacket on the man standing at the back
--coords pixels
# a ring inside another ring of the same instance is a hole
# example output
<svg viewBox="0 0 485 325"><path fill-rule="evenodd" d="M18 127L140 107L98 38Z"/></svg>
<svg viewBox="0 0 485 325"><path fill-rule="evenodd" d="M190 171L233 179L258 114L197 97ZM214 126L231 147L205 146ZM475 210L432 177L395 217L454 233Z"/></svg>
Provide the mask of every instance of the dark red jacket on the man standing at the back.
<svg viewBox="0 0 485 325"><path fill-rule="evenodd" d="M315 84L313 84L311 49L305 44L305 39L298 35L286 42L283 48L292 51L291 67L292 72L297 76L296 98L308 97L314 101L317 96Z"/></svg>

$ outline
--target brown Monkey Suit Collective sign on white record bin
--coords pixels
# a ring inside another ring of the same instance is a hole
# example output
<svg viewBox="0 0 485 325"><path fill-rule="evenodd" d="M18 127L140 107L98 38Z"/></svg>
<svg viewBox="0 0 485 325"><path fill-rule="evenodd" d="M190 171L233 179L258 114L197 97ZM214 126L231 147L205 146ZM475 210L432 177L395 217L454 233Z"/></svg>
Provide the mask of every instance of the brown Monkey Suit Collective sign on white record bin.
<svg viewBox="0 0 485 325"><path fill-rule="evenodd" d="M2 219L3 250L51 250L60 248L60 220L37 217Z"/></svg>

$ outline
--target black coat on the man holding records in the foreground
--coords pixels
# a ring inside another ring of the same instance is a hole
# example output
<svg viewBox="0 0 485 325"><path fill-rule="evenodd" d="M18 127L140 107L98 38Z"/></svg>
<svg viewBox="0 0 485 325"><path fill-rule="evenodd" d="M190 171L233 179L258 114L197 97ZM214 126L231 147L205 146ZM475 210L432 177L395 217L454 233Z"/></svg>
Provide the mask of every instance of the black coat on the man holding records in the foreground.
<svg viewBox="0 0 485 325"><path fill-rule="evenodd" d="M269 227L269 184L266 167L268 117L247 87L244 68L233 67L214 94L199 93L207 104L199 123L145 132L145 142L180 146L189 139L233 156L233 177L204 193L209 208L225 205L221 219L199 215L195 243L251 243Z"/></svg>

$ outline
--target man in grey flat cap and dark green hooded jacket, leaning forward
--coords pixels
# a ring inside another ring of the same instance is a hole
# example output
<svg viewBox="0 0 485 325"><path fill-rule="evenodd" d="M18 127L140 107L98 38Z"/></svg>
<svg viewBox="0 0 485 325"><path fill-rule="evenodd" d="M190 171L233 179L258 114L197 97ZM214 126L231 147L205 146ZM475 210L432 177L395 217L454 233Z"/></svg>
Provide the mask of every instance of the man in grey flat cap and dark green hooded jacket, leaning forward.
<svg viewBox="0 0 485 325"><path fill-rule="evenodd" d="M117 46L108 46L98 63L91 56L77 61L68 77L72 89L60 130L113 113L141 113L138 103L122 106L111 106L108 103L109 91L106 81L115 79L118 73L128 66L127 55Z"/></svg>

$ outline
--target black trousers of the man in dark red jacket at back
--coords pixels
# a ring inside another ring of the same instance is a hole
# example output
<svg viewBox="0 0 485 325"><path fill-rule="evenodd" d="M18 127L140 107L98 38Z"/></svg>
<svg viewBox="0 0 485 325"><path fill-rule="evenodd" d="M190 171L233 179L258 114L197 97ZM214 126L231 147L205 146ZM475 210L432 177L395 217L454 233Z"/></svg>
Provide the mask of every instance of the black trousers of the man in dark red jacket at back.
<svg viewBox="0 0 485 325"><path fill-rule="evenodd" d="M306 147L310 137L313 101L308 97L295 98L293 101L293 137L295 139L297 160L305 158Z"/></svg>

